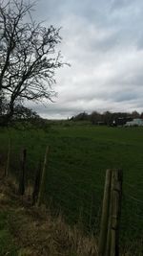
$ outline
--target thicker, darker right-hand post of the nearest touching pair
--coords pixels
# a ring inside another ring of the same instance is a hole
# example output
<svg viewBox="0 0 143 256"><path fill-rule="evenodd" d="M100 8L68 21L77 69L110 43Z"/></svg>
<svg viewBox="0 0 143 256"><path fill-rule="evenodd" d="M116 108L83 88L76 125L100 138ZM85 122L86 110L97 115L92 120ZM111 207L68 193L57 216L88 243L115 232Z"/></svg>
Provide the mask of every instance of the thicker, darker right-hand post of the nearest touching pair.
<svg viewBox="0 0 143 256"><path fill-rule="evenodd" d="M112 211L111 211L111 253L110 256L119 255L119 221L121 214L122 197L122 170L112 170Z"/></svg>

